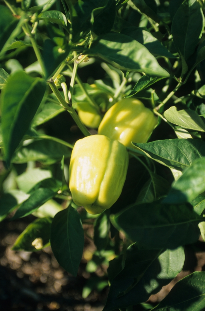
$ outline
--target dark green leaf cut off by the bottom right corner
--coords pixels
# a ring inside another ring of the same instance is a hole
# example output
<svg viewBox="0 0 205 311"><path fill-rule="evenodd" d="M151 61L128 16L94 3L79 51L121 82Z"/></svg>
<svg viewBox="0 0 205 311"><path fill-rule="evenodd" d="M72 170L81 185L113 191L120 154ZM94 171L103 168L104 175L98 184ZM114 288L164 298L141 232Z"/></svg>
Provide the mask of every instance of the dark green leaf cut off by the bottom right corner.
<svg viewBox="0 0 205 311"><path fill-rule="evenodd" d="M184 277L153 311L202 311L205 308L205 272Z"/></svg>

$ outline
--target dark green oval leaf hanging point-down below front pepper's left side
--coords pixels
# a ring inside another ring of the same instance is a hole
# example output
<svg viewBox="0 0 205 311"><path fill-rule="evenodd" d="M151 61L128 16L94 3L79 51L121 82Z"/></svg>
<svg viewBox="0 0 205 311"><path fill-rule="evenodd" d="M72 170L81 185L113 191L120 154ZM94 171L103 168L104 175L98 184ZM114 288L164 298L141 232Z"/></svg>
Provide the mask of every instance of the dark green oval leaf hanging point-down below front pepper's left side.
<svg viewBox="0 0 205 311"><path fill-rule="evenodd" d="M77 276L84 247L84 233L80 215L72 206L54 216L50 244L59 265Z"/></svg>

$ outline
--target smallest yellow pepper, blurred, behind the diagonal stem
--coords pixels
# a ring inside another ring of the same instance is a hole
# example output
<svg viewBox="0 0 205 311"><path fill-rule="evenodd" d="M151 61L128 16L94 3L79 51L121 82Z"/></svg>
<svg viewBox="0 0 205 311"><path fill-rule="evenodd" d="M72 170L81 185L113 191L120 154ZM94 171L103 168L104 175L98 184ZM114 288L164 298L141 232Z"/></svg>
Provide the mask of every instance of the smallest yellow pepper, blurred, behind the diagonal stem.
<svg viewBox="0 0 205 311"><path fill-rule="evenodd" d="M80 102L77 105L78 116L82 123L89 128L98 128L102 117L97 109L87 101Z"/></svg>

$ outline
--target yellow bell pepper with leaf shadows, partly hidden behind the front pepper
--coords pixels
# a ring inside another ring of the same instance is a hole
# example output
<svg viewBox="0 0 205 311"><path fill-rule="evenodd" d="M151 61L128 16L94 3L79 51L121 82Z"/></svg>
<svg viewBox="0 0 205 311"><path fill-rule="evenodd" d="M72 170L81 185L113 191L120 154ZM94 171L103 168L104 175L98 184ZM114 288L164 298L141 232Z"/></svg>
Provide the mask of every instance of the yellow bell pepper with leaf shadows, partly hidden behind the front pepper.
<svg viewBox="0 0 205 311"><path fill-rule="evenodd" d="M147 142L157 123L158 118L140 100L123 98L106 112L98 134L133 148L131 142Z"/></svg>

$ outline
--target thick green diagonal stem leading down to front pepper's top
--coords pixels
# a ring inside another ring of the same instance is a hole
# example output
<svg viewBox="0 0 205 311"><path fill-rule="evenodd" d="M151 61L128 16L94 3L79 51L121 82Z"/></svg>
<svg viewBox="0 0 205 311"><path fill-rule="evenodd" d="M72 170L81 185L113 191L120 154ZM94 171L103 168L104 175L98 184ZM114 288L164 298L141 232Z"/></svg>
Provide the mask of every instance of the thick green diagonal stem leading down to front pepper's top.
<svg viewBox="0 0 205 311"><path fill-rule="evenodd" d="M75 110L73 109L72 105L70 106L64 100L64 98L61 96L60 92L58 91L57 87L55 86L55 83L54 82L49 82L49 86L50 86L51 90L54 92L54 94L56 95L56 97L57 97L58 101L60 102L61 106L64 109L68 110L68 112L71 114L73 120L76 122L76 124L80 128L81 132L85 136L91 135L91 133L88 131L88 129L85 127L85 125L79 119L79 117L78 117L77 113L75 112Z"/></svg>

